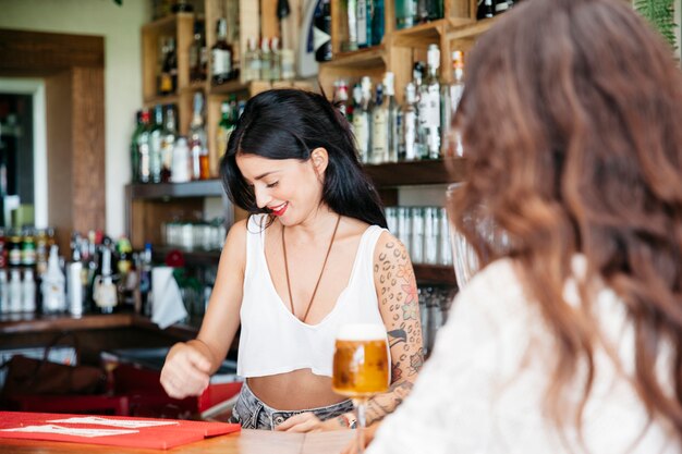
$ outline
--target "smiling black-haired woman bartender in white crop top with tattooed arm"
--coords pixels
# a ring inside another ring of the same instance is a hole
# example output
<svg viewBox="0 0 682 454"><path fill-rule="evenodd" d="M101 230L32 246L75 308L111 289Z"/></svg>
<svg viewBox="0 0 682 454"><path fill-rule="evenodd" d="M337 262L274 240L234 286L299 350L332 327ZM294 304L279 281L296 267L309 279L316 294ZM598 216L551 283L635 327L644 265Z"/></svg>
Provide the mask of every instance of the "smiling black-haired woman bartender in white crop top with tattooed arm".
<svg viewBox="0 0 682 454"><path fill-rule="evenodd" d="M278 89L252 98L222 159L230 199L251 216L228 234L196 340L174 345L161 372L169 395L200 394L241 322L233 410L244 428L355 426L331 390L338 329L381 323L391 345L390 391L378 421L410 392L423 363L412 263L387 230L345 118L321 95Z"/></svg>

